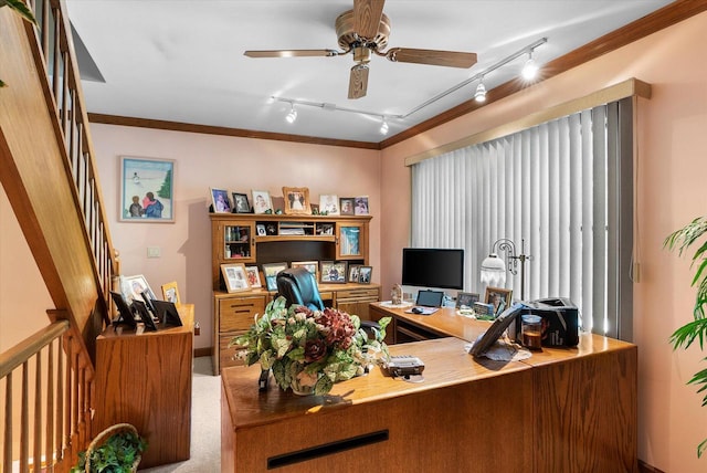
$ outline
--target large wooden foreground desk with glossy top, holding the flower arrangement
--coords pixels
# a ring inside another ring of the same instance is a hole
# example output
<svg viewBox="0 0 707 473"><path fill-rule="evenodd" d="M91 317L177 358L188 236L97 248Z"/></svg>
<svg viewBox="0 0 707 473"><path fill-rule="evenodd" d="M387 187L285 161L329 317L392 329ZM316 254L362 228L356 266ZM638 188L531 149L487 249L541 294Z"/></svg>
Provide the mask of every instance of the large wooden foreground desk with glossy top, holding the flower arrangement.
<svg viewBox="0 0 707 473"><path fill-rule="evenodd" d="M487 323L371 311L442 337L390 346L424 361L424 381L376 368L297 397L274 382L258 393L257 366L225 368L222 471L637 471L634 345L584 334L578 348L490 361L464 351Z"/></svg>

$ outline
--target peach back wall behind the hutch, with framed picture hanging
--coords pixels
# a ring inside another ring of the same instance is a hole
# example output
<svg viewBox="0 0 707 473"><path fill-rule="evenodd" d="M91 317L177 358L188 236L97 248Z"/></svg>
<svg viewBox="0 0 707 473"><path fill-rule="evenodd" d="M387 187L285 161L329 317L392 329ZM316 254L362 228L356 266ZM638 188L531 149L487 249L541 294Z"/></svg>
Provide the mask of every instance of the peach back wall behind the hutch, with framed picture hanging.
<svg viewBox="0 0 707 473"><path fill-rule="evenodd" d="M210 187L271 196L282 196L283 186L307 187L314 203L320 193L369 196L370 262L373 282L380 280L379 151L99 124L91 132L123 274L144 274L158 295L161 284L177 281L182 301L196 304L196 348L213 345ZM120 156L176 160L175 223L117 221ZM148 259L147 246L160 246L161 257Z"/></svg>

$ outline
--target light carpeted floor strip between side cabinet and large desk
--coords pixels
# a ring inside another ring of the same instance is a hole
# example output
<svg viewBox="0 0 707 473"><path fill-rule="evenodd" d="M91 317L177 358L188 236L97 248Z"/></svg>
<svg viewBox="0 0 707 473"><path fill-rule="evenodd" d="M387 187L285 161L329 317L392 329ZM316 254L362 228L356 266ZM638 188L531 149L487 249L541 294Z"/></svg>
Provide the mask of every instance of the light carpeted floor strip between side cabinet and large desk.
<svg viewBox="0 0 707 473"><path fill-rule="evenodd" d="M140 470L148 473L215 473L221 471L221 377L211 357L194 358L191 385L191 458L186 462Z"/></svg>

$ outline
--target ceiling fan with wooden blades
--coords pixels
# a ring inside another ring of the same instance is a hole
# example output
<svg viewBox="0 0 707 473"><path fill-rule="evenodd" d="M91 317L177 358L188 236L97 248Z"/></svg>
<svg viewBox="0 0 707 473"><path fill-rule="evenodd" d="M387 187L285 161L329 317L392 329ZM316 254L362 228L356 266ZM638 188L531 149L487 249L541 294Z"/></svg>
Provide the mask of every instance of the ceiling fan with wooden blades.
<svg viewBox="0 0 707 473"><path fill-rule="evenodd" d="M390 20L383 13L386 0L354 0L354 10L341 13L335 22L336 34L342 51L336 50L272 50L245 51L249 57L303 57L338 56L354 54L356 64L349 75L349 98L366 96L368 88L368 63L372 54L392 62L471 67L476 64L476 54L455 51L391 48L388 45Z"/></svg>

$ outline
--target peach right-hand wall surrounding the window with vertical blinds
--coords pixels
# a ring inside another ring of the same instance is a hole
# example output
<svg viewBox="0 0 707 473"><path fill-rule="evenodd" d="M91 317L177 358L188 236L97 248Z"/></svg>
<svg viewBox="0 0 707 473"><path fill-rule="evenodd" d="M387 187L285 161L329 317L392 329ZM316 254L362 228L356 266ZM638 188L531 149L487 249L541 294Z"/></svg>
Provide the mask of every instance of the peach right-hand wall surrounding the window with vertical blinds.
<svg viewBox="0 0 707 473"><path fill-rule="evenodd" d="M663 240L707 213L707 13L653 34L481 111L382 151L381 246L384 286L400 280L400 249L408 243L410 174L403 160L442 144L636 77L653 84L639 102L634 341L639 345L639 458L665 472L704 472L696 448L707 438L701 396L685 386L705 368L698 347L673 353L668 337L692 319L695 291L687 257L663 249ZM551 39L550 39L551 41ZM408 216L408 219L403 219Z"/></svg>

